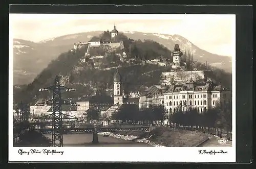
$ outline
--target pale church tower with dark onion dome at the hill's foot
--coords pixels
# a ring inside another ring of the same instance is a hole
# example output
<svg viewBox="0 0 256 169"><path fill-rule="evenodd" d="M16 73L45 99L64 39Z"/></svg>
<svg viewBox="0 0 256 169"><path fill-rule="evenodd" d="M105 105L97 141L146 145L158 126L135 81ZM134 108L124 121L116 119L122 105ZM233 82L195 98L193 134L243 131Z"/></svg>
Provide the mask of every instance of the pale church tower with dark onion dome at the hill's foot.
<svg viewBox="0 0 256 169"><path fill-rule="evenodd" d="M114 75L114 105L121 105L123 104L123 94L122 94L122 80L121 76L116 71L116 74Z"/></svg>

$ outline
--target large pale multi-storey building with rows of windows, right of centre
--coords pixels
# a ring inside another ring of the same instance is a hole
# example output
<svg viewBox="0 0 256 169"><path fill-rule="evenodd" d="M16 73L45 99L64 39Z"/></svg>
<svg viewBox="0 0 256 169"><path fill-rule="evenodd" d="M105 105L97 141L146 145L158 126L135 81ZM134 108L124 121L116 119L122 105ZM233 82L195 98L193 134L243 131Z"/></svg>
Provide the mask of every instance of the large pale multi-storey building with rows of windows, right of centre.
<svg viewBox="0 0 256 169"><path fill-rule="evenodd" d="M185 84L174 84L163 94L164 107L168 113L193 108L201 113L214 108L218 102L225 104L231 101L231 91L222 85L214 84L210 78L200 84L192 79Z"/></svg>

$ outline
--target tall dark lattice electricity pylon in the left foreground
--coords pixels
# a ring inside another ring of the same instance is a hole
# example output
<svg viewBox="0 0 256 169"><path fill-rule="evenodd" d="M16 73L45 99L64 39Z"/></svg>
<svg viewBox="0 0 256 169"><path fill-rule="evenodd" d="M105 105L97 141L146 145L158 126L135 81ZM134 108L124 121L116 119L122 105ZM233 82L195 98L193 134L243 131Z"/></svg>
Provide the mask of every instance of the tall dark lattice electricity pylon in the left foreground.
<svg viewBox="0 0 256 169"><path fill-rule="evenodd" d="M38 103L36 106L52 105L52 147L63 147L63 127L61 105L78 106L76 103L61 99L61 90L75 91L73 88L61 86L59 78L56 76L54 85L46 88L40 88L39 91L53 90L53 99Z"/></svg>

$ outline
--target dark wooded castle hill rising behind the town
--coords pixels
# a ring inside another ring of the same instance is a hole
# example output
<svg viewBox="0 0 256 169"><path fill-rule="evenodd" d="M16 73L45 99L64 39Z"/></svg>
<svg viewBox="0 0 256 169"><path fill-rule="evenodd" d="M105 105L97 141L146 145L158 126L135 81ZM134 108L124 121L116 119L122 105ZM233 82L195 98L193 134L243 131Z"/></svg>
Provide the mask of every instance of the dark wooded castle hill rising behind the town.
<svg viewBox="0 0 256 169"><path fill-rule="evenodd" d="M105 32L100 36L104 36ZM97 38L97 37L92 37ZM143 91L146 87L159 82L160 74L171 68L147 64L144 60L167 58L172 61L170 52L165 46L152 40L134 40L124 34L117 35L118 41L123 41L124 51L108 53L107 57L98 60L87 58L86 63L81 63L88 45L76 51L62 53L57 59L41 71L41 73L28 85L14 87L14 102L20 101L34 104L42 99L49 99L52 93L40 93L39 88L53 85L56 75L61 77L61 84L75 88L75 92L63 93L63 98L78 98L82 95L105 94L106 89L113 88L113 76L117 68L123 77L124 92ZM120 53L125 52L126 58L121 61ZM190 54L189 54L190 55ZM191 58L191 57L190 57ZM193 59L192 59L193 60ZM205 69L200 62L193 62L191 68ZM214 68L214 67L208 67ZM224 70L215 69L223 85L230 87L231 74ZM224 81L226 80L226 84ZM229 83L229 84L228 84Z"/></svg>

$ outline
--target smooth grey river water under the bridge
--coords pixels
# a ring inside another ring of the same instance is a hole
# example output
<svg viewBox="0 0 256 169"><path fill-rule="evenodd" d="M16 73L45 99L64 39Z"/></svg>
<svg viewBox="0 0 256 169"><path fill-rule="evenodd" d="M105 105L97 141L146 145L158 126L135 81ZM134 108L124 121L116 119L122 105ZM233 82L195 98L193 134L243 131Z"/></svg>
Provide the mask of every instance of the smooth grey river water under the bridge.
<svg viewBox="0 0 256 169"><path fill-rule="evenodd" d="M52 138L52 134L44 134L48 138ZM63 134L64 147L151 147L146 143L122 140L112 137L103 137L98 135L98 144L93 144L92 133L68 133Z"/></svg>

